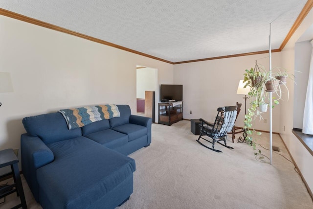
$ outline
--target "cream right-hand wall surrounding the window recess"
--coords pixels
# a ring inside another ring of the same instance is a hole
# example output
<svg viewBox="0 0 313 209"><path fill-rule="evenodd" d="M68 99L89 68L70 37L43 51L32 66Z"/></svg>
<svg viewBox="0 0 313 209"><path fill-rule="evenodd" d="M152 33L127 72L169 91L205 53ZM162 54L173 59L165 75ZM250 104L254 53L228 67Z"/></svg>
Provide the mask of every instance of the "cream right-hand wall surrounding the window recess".
<svg viewBox="0 0 313 209"><path fill-rule="evenodd" d="M281 52L282 67L291 70L295 69L295 50L294 46L299 37L305 33L305 31L313 24L313 10L311 10L307 17L303 20L300 26L297 28L295 33L291 36L291 39ZM299 69L296 69L299 70ZM305 82L305 81L303 81ZM293 128L293 101L294 101L294 84L289 82L288 87L290 90L289 101L281 103L281 114L280 114L280 134L288 147L291 155L298 165L305 181L313 191L313 156L303 146L303 144L292 134L291 129ZM299 101L300 102L300 101ZM283 127L285 126L285 131Z"/></svg>

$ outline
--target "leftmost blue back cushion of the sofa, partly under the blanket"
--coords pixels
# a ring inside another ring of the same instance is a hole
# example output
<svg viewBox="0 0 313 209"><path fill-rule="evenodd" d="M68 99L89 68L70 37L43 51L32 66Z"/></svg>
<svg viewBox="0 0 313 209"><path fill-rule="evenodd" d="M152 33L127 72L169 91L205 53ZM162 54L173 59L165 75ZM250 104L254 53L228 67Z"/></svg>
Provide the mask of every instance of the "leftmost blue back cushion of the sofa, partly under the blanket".
<svg viewBox="0 0 313 209"><path fill-rule="evenodd" d="M82 136L80 128L68 130L61 113L25 117L22 123L29 136L39 137L45 144Z"/></svg>

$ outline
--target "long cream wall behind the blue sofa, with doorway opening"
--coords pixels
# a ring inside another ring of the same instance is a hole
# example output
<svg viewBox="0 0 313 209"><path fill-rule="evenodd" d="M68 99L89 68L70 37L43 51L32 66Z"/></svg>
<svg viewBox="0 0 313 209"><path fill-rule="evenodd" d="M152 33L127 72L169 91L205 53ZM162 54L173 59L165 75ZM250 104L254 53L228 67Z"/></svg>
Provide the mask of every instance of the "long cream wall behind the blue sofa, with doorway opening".
<svg viewBox="0 0 313 209"><path fill-rule="evenodd" d="M104 103L135 113L137 64L173 83L171 64L0 16L0 71L14 87L0 93L0 149L20 148L25 116Z"/></svg>

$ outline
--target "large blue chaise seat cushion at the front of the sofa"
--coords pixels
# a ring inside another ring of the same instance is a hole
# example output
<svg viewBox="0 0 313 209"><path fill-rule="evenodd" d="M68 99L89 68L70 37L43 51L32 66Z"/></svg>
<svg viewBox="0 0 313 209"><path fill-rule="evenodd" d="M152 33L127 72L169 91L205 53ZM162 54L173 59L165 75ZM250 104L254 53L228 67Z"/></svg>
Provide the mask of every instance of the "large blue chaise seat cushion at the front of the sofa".
<svg viewBox="0 0 313 209"><path fill-rule="evenodd" d="M85 137L48 147L55 160L37 170L40 201L57 209L85 209L133 175L133 159ZM41 192L41 191L40 191Z"/></svg>

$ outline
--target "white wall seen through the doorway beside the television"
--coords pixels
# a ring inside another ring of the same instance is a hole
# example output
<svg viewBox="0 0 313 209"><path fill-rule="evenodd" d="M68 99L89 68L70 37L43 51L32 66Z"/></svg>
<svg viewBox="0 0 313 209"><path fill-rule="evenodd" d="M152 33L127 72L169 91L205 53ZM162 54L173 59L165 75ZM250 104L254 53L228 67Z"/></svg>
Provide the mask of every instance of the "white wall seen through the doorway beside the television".
<svg viewBox="0 0 313 209"><path fill-rule="evenodd" d="M157 91L157 69L137 69L137 98L144 99L145 91Z"/></svg>

